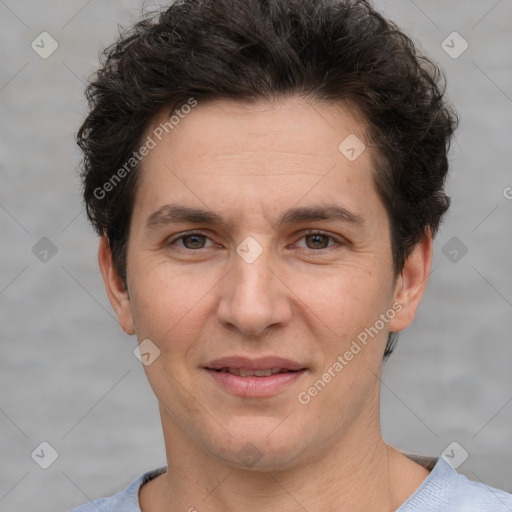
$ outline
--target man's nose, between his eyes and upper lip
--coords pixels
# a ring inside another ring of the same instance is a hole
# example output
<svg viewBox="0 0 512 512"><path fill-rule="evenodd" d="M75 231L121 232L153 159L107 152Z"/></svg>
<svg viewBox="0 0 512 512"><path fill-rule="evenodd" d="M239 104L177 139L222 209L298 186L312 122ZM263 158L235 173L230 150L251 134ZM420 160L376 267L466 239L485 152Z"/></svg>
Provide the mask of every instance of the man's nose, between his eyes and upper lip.
<svg viewBox="0 0 512 512"><path fill-rule="evenodd" d="M290 290L280 279L273 258L265 248L252 262L234 254L233 266L219 283L217 316L226 328L245 337L258 337L270 327L284 325L291 318Z"/></svg>

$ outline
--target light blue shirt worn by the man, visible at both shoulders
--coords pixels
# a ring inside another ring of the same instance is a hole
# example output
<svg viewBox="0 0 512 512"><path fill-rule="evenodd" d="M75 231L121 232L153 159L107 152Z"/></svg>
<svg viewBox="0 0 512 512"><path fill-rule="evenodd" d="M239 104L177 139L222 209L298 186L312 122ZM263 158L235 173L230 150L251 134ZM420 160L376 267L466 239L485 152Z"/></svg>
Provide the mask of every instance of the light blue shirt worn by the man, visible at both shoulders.
<svg viewBox="0 0 512 512"><path fill-rule="evenodd" d="M433 459L433 464L429 476L395 512L512 512L512 494L469 480L443 458ZM139 489L165 470L163 467L144 473L114 496L71 512L141 512Z"/></svg>

